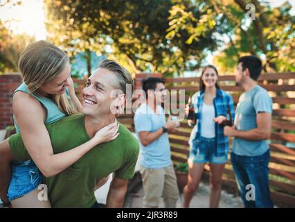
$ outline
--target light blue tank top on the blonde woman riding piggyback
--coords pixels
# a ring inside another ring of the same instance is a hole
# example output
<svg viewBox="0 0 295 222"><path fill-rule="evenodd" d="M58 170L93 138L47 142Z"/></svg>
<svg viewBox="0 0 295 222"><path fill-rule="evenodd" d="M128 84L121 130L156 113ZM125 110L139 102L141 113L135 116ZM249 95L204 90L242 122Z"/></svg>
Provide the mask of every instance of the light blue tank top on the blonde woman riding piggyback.
<svg viewBox="0 0 295 222"><path fill-rule="evenodd" d="M61 119L62 117L65 117L66 114L62 111L60 111L60 109L57 107L57 105L55 104L55 102L53 102L53 100L42 96L41 94L38 93L30 93L28 91L28 87L25 83L22 83L17 89L15 89L15 92L17 91L22 91L22 92L26 92L32 96L34 96L35 99L37 99L46 109L46 120L44 123L53 123L59 119ZM24 104L25 105L25 104ZM33 115L33 113L32 113ZM15 119L15 118L13 118ZM19 126L17 126L17 124L15 123L15 128L17 130L17 133L19 133Z"/></svg>

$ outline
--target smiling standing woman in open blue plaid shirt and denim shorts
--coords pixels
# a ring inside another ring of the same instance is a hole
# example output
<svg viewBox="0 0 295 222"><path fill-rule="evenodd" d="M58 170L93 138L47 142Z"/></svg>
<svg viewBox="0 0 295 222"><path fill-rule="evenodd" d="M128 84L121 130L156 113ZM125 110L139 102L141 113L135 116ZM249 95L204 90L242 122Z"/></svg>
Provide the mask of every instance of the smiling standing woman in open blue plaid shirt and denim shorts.
<svg viewBox="0 0 295 222"><path fill-rule="evenodd" d="M190 155L188 157L188 184L184 187L184 207L189 207L190 200L199 187L204 164L211 169L210 207L218 207L222 190L222 172L227 162L229 139L224 136L226 114L234 117L231 95L220 89L218 72L213 65L204 67L200 78L200 92L192 96L195 120L188 120L195 125L190 135ZM188 114L188 105L186 114Z"/></svg>

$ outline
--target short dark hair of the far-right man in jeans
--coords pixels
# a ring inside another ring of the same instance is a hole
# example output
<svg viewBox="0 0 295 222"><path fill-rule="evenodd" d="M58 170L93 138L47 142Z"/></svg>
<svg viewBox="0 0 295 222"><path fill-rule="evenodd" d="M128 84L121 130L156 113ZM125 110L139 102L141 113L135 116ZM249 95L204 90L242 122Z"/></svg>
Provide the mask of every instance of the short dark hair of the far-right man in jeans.
<svg viewBox="0 0 295 222"><path fill-rule="evenodd" d="M258 80L262 71L262 62L257 56L243 56L239 59L242 62L242 70L249 69L250 77Z"/></svg>

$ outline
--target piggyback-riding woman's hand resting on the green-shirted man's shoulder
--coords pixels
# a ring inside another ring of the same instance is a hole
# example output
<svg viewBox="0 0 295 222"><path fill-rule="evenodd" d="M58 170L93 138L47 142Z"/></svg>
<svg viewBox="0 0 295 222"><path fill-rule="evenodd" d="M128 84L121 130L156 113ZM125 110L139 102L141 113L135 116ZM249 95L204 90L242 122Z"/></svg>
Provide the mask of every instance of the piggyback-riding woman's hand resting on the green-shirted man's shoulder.
<svg viewBox="0 0 295 222"><path fill-rule="evenodd" d="M111 123L100 130L96 132L96 135L94 135L93 139L98 142L98 144L109 142L111 140L116 139L118 137L119 124L117 123L117 119L114 123Z"/></svg>

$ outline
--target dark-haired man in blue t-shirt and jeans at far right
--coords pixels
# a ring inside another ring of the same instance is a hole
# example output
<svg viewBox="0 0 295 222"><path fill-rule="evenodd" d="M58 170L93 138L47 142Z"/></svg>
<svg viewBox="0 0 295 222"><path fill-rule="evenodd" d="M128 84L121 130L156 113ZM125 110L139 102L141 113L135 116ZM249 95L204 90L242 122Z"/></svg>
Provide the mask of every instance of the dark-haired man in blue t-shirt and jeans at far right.
<svg viewBox="0 0 295 222"><path fill-rule="evenodd" d="M269 191L269 146L272 101L257 84L262 62L256 56L240 58L235 74L244 88L235 111L235 126L224 128L232 136L231 164L245 207L274 207Z"/></svg>

